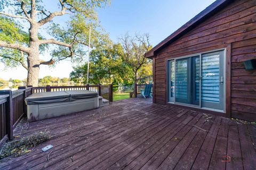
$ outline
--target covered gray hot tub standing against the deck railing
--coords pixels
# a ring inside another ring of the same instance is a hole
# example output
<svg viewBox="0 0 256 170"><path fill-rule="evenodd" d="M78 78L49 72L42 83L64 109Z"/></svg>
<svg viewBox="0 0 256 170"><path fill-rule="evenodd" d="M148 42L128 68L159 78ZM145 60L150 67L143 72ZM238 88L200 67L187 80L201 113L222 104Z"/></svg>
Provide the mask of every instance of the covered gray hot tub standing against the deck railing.
<svg viewBox="0 0 256 170"><path fill-rule="evenodd" d="M89 90L35 93L25 101L29 122L99 107L98 93Z"/></svg>

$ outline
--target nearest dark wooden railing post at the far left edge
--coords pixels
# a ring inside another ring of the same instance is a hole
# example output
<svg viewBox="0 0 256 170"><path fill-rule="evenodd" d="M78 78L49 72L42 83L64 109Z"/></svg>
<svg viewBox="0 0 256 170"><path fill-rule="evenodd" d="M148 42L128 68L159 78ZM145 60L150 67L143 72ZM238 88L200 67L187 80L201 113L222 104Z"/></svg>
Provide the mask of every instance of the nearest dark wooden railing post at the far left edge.
<svg viewBox="0 0 256 170"><path fill-rule="evenodd" d="M9 95L6 102L6 133L8 134L9 140L13 139L13 103L12 103L12 91L1 90L0 95Z"/></svg>

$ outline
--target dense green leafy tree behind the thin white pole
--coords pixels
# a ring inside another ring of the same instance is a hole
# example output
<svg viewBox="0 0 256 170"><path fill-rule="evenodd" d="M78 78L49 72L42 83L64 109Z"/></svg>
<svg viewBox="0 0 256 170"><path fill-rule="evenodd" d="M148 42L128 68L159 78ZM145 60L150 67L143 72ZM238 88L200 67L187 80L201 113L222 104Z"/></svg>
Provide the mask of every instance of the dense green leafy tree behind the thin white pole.
<svg viewBox="0 0 256 170"><path fill-rule="evenodd" d="M113 81L122 82L128 72L127 66L122 63L122 58L118 51L122 47L108 40L108 43L102 44L92 50L90 55L89 82L113 83ZM70 73L70 79L76 83L86 83L87 63L74 67Z"/></svg>

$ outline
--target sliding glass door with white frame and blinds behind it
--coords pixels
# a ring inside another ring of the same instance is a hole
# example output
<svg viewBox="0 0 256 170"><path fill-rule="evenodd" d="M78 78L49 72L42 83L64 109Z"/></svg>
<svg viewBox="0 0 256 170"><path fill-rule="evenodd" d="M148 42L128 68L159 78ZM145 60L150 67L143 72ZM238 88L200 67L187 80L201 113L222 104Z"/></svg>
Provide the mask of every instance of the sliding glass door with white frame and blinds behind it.
<svg viewBox="0 0 256 170"><path fill-rule="evenodd" d="M168 100L223 110L223 51L168 61Z"/></svg>

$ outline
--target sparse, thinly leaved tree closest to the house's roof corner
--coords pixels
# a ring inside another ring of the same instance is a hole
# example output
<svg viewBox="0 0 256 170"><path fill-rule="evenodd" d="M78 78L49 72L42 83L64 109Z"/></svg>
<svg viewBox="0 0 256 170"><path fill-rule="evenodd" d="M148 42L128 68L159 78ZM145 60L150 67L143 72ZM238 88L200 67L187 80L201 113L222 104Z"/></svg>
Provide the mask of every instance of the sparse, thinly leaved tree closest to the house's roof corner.
<svg viewBox="0 0 256 170"><path fill-rule="evenodd" d="M137 83L138 71L143 65L150 63L150 60L145 58L145 53L152 48L149 43L149 35L135 34L134 37L131 37L126 34L119 39L123 47L123 50L121 50L119 55L121 55L123 61L131 67L134 74L134 83Z"/></svg>

